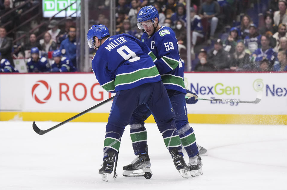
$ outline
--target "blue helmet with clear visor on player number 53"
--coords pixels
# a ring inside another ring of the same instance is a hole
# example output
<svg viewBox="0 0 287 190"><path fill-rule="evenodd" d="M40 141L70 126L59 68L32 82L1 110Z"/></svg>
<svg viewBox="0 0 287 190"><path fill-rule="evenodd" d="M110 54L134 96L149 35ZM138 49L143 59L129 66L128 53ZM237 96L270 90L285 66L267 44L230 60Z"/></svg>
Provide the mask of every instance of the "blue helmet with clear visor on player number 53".
<svg viewBox="0 0 287 190"><path fill-rule="evenodd" d="M149 6L145 6L141 8L141 10L138 12L138 15L137 15L138 28L144 29L141 26L140 22L151 20L152 23L155 23L155 18L158 18L158 21L159 21L158 10L156 10L154 6L149 5Z"/></svg>

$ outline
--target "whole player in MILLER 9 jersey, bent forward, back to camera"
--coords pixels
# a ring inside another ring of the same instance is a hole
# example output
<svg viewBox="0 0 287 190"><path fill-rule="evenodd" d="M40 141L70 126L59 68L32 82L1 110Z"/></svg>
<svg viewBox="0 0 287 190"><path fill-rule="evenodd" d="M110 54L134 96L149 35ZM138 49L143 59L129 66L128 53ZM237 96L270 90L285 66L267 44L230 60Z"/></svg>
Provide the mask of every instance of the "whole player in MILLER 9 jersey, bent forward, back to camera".
<svg viewBox="0 0 287 190"><path fill-rule="evenodd" d="M106 125L103 167L99 170L103 180L107 181L112 173L125 126L141 104L153 113L176 169L182 177L188 178L189 167L178 153L181 142L175 129L175 114L151 58L155 55L131 35L110 36L108 28L102 24L89 29L87 41L89 47L97 50L92 69L98 82L106 91L116 92Z"/></svg>

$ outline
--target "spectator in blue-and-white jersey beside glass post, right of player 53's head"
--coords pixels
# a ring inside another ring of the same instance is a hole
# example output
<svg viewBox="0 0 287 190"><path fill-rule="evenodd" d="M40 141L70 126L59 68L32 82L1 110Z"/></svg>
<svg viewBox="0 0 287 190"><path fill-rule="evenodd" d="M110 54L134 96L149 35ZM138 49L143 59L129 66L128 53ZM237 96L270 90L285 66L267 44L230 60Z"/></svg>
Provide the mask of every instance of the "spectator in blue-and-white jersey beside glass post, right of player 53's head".
<svg viewBox="0 0 287 190"><path fill-rule="evenodd" d="M191 31L192 31L192 45L196 45L197 38L203 38L204 32L201 24L200 16L196 15L196 11L193 7L190 7L190 21L191 21Z"/></svg>

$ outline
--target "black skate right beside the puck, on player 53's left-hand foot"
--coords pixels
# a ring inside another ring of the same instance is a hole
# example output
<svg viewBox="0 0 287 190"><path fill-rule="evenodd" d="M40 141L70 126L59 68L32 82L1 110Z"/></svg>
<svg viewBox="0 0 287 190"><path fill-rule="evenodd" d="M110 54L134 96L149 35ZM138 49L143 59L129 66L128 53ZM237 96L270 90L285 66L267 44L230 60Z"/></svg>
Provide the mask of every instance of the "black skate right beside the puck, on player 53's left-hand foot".
<svg viewBox="0 0 287 190"><path fill-rule="evenodd" d="M150 179L152 177L152 171L150 170L150 160L147 152L137 155L128 166L123 166L123 176L125 177L142 177Z"/></svg>

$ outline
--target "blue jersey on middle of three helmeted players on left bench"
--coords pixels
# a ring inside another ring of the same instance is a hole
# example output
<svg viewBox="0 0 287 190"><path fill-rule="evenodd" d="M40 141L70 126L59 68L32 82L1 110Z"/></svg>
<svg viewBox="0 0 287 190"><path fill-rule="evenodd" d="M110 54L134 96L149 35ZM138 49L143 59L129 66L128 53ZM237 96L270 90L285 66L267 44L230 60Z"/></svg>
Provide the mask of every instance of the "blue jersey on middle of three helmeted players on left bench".
<svg viewBox="0 0 287 190"><path fill-rule="evenodd" d="M28 72L48 72L50 71L50 64L47 58L41 57L38 61L33 61L32 58L28 59L27 62Z"/></svg>

